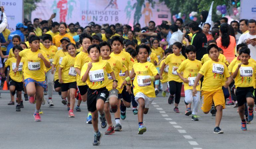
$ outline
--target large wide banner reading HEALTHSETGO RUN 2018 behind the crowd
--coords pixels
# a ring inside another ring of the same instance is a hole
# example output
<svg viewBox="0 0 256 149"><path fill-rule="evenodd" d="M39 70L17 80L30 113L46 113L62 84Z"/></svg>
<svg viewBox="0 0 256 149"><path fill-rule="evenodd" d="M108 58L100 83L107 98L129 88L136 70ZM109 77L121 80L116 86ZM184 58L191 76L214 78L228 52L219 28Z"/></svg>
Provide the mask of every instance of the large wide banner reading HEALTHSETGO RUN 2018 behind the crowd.
<svg viewBox="0 0 256 149"><path fill-rule="evenodd" d="M83 27L90 22L96 24L140 23L147 26L153 20L160 25L163 20L171 20L169 8L159 0L42 0L36 3L31 20L48 20L53 13L53 21L76 23Z"/></svg>

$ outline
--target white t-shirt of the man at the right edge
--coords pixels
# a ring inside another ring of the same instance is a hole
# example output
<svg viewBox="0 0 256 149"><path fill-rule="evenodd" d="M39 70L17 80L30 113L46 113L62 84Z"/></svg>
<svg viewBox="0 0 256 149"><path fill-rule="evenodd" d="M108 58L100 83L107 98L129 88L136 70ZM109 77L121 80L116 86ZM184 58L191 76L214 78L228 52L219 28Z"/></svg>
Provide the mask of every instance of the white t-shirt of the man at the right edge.
<svg viewBox="0 0 256 149"><path fill-rule="evenodd" d="M250 38L250 39L253 39L253 38L256 38L256 35L250 35L250 33L245 33L245 34L242 34L238 40L238 43L237 44L240 44L240 43L245 43L245 41ZM250 49L250 56L252 59L256 59L256 45L255 46L252 46L251 44L248 44L248 48Z"/></svg>

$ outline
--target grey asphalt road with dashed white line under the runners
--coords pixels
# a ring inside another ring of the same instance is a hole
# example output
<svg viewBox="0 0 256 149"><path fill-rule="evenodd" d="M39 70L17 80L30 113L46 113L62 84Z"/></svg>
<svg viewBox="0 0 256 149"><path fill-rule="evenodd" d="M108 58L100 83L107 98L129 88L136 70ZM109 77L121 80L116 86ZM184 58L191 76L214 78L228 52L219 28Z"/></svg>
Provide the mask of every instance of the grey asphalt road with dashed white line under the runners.
<svg viewBox="0 0 256 149"><path fill-rule="evenodd" d="M74 112L75 118L68 117L66 106L61 97L54 94L54 107L42 106L42 122L34 122L35 105L24 101L21 112L15 111L9 93L1 93L0 98L0 148L46 149L46 148L179 148L179 149L211 149L211 148L255 148L256 124L247 124L247 131L240 130L240 119L236 108L223 110L220 128L224 134L214 134L215 117L203 114L199 109L199 121L191 121L185 116L184 98L179 109L174 113L174 105L169 105L168 97L160 97L150 106L144 116L147 131L138 135L138 118L132 109L127 109L127 117L121 120L122 132L103 135L99 146L92 146L93 128L86 124L87 106L81 104L82 112ZM47 96L46 96L47 97ZM23 98L24 99L24 98ZM112 122L114 117L112 114ZM107 128L99 130L104 133Z"/></svg>

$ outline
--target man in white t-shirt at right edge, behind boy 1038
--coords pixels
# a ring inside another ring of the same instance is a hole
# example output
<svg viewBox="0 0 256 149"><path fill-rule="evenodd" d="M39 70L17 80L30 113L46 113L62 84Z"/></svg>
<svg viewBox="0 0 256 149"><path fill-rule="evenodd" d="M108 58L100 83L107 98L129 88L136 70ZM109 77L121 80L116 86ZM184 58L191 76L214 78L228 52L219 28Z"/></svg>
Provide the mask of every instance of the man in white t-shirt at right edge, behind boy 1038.
<svg viewBox="0 0 256 149"><path fill-rule="evenodd" d="M242 34L237 44L246 43L250 49L250 56L256 60L256 21L251 19L248 21L249 32Z"/></svg>

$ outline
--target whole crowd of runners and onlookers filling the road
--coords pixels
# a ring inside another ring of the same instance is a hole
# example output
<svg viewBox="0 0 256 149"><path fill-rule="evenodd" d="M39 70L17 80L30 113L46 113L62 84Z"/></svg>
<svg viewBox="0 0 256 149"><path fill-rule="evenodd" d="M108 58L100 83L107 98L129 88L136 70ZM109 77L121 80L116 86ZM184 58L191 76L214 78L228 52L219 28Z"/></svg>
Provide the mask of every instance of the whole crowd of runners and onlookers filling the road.
<svg viewBox="0 0 256 149"><path fill-rule="evenodd" d="M120 118L126 108L138 115L138 134L146 132L143 115L160 92L174 112L184 86L186 116L198 121L198 107L215 116L214 133L220 129L222 109L238 108L241 130L253 120L256 88L256 21L241 19L228 24L223 17L212 24L175 24L150 21L148 26L98 25L31 21L16 25L16 31L0 34L2 80L9 82L11 101L16 111L25 101L36 104L35 121L41 121L41 105L54 106L53 90L67 105L68 117L75 117L81 102L87 101L87 124L94 129L93 145L100 144L100 126L105 134L122 131ZM75 106L75 101L77 104ZM193 103L193 106L192 106ZM99 113L99 115L98 115ZM114 113L115 126L111 121Z"/></svg>

